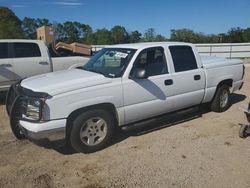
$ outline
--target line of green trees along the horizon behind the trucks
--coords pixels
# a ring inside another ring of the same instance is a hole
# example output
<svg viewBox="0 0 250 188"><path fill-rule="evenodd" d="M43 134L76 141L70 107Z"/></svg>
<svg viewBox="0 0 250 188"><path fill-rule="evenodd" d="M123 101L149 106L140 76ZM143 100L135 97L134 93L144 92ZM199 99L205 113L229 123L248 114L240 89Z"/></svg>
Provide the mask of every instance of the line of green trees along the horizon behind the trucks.
<svg viewBox="0 0 250 188"><path fill-rule="evenodd" d="M56 40L62 42L82 42L85 44L120 44L135 42L179 41L192 43L237 43L250 42L250 28L231 28L227 33L207 35L191 29L172 29L170 38L157 34L154 28L148 28L145 33L138 30L128 31L125 27L116 25L110 30L106 28L93 30L90 25L67 21L51 23L45 18L25 17L20 20L7 7L0 7L0 39L26 38L36 39L36 29L41 26L52 26Z"/></svg>

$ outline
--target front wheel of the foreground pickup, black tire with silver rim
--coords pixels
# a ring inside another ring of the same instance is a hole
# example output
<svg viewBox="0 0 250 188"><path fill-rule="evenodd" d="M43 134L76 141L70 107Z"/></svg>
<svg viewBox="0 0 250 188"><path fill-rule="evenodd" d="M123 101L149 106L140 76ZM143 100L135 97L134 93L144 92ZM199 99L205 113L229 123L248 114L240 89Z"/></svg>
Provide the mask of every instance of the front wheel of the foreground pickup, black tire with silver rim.
<svg viewBox="0 0 250 188"><path fill-rule="evenodd" d="M102 121L101 122L102 125L98 128L96 126L97 125L97 122L95 122L96 120ZM87 121L89 123L87 123ZM93 127L91 128L90 125L93 125ZM78 152L92 153L108 146L114 133L115 120L112 117L112 115L106 110L91 109L79 114L72 121L71 126L72 127L70 129L70 134L69 134L70 135L69 141L71 146ZM105 127L105 130L104 128L102 128L102 126ZM94 135L100 132L102 132L102 134L105 134L105 136L101 138L98 135ZM81 133L87 134L86 137L80 136ZM95 138L93 139L93 137ZM91 145L90 143L86 143L89 142L90 138L93 139L92 141L97 142L97 144L93 143L95 145Z"/></svg>

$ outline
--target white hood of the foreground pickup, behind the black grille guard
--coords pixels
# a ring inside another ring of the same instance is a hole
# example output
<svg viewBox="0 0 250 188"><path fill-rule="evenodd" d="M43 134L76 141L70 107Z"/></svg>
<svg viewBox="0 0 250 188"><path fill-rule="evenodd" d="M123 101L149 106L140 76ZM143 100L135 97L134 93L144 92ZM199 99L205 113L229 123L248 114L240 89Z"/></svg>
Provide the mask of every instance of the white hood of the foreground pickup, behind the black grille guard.
<svg viewBox="0 0 250 188"><path fill-rule="evenodd" d="M72 69L30 77L23 80L21 86L32 91L46 92L54 96L110 82L110 78L106 78L101 74Z"/></svg>

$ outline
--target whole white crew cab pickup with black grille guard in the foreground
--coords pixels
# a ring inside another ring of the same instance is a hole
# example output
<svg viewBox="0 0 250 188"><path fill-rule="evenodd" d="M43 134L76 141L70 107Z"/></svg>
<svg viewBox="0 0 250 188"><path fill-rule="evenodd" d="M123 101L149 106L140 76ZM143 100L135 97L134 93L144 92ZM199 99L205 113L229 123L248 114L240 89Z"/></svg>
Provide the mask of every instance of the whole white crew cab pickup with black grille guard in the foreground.
<svg viewBox="0 0 250 188"><path fill-rule="evenodd" d="M63 138L89 153L107 146L117 126L201 103L226 111L243 75L241 60L200 57L193 44L121 44L102 49L82 69L12 85L6 107L18 139Z"/></svg>

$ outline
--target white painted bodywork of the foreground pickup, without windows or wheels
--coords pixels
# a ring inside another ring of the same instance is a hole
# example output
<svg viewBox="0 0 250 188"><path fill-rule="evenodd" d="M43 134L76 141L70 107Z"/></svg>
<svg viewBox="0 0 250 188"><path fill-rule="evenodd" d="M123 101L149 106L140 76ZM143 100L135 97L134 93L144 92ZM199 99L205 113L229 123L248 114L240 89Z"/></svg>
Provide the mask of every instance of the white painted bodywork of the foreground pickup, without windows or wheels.
<svg viewBox="0 0 250 188"><path fill-rule="evenodd" d="M198 68L175 72L169 46L191 46ZM137 55L150 47L163 47L169 73L147 79L132 80L130 71ZM74 69L39 75L25 79L22 87L33 91L46 92L52 97L46 100L44 120L67 119L77 109L103 103L112 104L116 109L119 126L173 112L205 102L210 102L218 84L227 79L233 80L231 92L242 84L243 63L240 60L226 60L215 57L200 57L195 46L187 43L139 43L115 45L112 48L133 48L136 53L123 76L106 78L101 74ZM200 80L194 80L200 75ZM164 81L173 80L166 86ZM35 124L35 123L34 123ZM30 123L21 122L30 131ZM58 128L58 123L55 123ZM52 123L50 128L53 129ZM66 124L61 124L64 128ZM40 125L41 130L42 125Z"/></svg>

